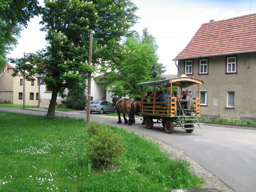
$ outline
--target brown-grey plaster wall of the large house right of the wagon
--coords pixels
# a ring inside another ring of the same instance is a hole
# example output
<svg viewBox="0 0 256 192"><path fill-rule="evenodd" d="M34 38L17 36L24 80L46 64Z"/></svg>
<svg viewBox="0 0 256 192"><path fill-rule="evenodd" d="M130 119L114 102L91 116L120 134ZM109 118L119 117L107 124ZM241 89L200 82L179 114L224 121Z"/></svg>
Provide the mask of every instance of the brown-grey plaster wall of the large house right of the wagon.
<svg viewBox="0 0 256 192"><path fill-rule="evenodd" d="M208 94L207 106L201 106L202 116L256 120L256 53L236 56L237 74L225 74L226 56L208 57L208 75L198 74L199 59L193 59L191 76L204 81L201 90L207 90ZM178 65L180 74L184 74L184 60L179 60ZM198 95L198 86L188 89L192 89L193 97ZM234 108L226 108L228 91L235 94Z"/></svg>

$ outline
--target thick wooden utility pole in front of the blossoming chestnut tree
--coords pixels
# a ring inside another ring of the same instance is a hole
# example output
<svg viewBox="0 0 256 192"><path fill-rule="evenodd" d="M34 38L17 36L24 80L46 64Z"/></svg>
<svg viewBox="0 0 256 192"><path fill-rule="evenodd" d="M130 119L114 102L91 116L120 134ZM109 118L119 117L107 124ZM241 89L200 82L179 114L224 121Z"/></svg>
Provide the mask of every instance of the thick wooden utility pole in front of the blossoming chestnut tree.
<svg viewBox="0 0 256 192"><path fill-rule="evenodd" d="M90 30L90 42L89 42L89 65L92 64L92 29ZM91 72L88 73L88 88L87 88L87 110L86 110L86 125L90 123L90 104L91 104Z"/></svg>

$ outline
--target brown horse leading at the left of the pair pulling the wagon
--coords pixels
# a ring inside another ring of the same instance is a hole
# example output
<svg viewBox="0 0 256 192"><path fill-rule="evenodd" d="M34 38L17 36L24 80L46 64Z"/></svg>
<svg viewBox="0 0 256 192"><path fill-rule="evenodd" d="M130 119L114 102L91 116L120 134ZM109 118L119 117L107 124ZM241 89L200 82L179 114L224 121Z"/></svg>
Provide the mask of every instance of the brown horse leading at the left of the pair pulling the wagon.
<svg viewBox="0 0 256 192"><path fill-rule="evenodd" d="M122 123L120 114L123 114L124 118L124 123L128 123L128 125L132 125L135 123L135 118L134 118L134 102L130 100L123 100L123 99L118 99L117 97L114 97L112 99L112 106L116 106L116 113L118 114L118 122L117 123ZM126 119L125 114L128 115L129 120Z"/></svg>

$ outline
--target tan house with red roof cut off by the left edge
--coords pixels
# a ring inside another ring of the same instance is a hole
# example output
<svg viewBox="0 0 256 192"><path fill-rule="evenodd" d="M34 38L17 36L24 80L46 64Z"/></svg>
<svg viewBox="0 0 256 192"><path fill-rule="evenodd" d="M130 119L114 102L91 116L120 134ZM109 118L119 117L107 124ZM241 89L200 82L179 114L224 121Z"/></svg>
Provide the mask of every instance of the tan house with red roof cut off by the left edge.
<svg viewBox="0 0 256 192"><path fill-rule="evenodd" d="M6 64L6 67L0 71L0 99L13 102L13 73L14 67Z"/></svg>

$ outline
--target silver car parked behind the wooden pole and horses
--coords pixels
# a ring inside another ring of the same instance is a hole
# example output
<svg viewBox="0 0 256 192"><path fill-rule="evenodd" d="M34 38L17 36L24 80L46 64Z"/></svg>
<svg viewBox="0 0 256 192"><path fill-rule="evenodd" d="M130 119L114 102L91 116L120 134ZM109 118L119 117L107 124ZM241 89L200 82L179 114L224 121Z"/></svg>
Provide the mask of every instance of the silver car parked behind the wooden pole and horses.
<svg viewBox="0 0 256 192"><path fill-rule="evenodd" d="M84 107L84 110L87 110L87 107ZM92 101L90 104L90 114L92 112L97 112L99 114L103 114L105 112L110 112L110 113L116 113L116 106L111 106L111 103L108 101L103 101L103 100L97 100L97 101Z"/></svg>

